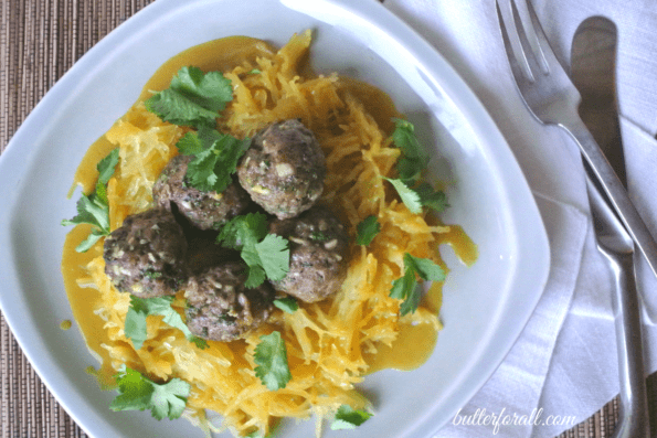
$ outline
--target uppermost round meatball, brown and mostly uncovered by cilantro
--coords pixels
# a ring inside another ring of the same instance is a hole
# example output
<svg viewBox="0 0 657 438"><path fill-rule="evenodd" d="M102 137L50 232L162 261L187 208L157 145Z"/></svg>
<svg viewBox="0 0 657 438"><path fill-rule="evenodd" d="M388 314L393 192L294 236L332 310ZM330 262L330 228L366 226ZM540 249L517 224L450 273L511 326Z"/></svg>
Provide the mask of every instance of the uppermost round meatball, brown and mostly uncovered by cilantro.
<svg viewBox="0 0 657 438"><path fill-rule="evenodd" d="M299 120L276 122L254 136L237 168L253 201L278 218L310 209L324 191L326 158Z"/></svg>

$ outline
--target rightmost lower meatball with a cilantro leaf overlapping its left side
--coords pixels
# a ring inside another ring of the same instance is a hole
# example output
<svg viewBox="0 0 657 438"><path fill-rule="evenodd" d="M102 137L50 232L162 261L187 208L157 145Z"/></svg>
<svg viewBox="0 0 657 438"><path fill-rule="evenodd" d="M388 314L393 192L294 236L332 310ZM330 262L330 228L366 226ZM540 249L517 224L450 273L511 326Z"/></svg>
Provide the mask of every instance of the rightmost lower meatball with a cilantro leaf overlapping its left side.
<svg viewBox="0 0 657 438"><path fill-rule="evenodd" d="M273 282L277 290L315 302L340 289L347 276L349 236L326 207L315 206L298 217L274 221L269 233L289 241L289 271Z"/></svg>

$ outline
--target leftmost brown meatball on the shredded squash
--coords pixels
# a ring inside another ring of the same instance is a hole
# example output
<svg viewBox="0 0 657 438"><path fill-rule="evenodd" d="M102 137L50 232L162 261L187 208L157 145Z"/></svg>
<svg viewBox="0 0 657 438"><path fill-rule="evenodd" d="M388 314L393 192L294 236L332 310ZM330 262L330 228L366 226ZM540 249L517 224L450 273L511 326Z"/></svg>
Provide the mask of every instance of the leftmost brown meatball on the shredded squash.
<svg viewBox="0 0 657 438"><path fill-rule="evenodd" d="M128 216L105 238L105 274L114 287L139 298L174 295L187 280L187 241L162 209Z"/></svg>

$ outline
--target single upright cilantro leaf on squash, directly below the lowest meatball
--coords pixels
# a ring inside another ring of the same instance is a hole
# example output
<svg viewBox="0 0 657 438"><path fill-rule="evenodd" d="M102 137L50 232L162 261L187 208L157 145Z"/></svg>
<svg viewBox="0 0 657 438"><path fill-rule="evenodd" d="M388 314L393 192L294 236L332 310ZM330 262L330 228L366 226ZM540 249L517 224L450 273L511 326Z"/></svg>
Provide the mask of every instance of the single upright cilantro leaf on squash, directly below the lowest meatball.
<svg viewBox="0 0 657 438"><path fill-rule="evenodd" d="M255 375L269 391L284 388L292 380L287 365L287 349L280 332L261 336L261 343L255 348Z"/></svg>

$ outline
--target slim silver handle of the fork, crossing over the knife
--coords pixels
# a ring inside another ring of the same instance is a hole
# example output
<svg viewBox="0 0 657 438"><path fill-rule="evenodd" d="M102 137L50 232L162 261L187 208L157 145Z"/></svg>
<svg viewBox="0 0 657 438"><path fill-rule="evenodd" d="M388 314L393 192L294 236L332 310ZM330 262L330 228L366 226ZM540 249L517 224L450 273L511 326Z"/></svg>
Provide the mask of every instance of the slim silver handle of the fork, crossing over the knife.
<svg viewBox="0 0 657 438"><path fill-rule="evenodd" d="M627 228L627 233L632 236L636 247L643 254L646 261L648 261L653 274L657 276L657 244L655 243L655 238L648 231L644 220L629 200L623 183L582 119L579 116L570 117L570 119L568 124L561 124L560 127L569 132L580 147L582 156L591 165L607 200L625 225L625 228Z"/></svg>

